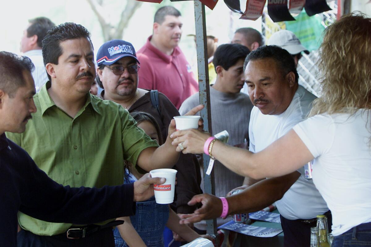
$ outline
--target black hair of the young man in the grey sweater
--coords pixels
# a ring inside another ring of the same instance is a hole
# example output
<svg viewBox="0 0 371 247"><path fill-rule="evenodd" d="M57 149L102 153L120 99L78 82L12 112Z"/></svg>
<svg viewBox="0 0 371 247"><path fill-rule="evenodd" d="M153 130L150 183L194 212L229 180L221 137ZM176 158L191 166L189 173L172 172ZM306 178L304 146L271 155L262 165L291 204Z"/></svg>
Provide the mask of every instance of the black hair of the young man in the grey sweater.
<svg viewBox="0 0 371 247"><path fill-rule="evenodd" d="M240 59L245 60L249 53L249 48L241 44L220 45L214 53L213 64L215 71L217 66L229 70L229 68L236 64Z"/></svg>

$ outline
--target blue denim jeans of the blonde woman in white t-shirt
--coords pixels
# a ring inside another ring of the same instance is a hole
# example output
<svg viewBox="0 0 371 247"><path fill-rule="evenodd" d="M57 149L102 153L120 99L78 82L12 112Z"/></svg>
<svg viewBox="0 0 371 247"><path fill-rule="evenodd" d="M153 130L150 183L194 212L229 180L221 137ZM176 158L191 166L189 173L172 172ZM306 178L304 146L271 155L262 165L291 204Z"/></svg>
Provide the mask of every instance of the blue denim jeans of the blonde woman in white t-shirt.
<svg viewBox="0 0 371 247"><path fill-rule="evenodd" d="M371 222L360 224L336 236L331 247L371 246Z"/></svg>

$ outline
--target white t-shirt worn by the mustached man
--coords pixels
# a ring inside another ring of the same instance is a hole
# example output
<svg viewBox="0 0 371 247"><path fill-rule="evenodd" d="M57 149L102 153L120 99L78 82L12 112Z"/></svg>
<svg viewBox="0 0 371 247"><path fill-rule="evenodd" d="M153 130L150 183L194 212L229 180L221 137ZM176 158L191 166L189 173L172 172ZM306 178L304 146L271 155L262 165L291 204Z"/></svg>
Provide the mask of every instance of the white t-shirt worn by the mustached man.
<svg viewBox="0 0 371 247"><path fill-rule="evenodd" d="M256 153L282 137L297 123L303 121L316 97L298 87L289 107L280 115L264 115L257 107L251 111L249 124L250 151ZM304 164L303 164L304 166ZM305 179L304 167L298 170L301 176L276 202L280 214L289 219L311 219L328 211L324 199L312 180Z"/></svg>

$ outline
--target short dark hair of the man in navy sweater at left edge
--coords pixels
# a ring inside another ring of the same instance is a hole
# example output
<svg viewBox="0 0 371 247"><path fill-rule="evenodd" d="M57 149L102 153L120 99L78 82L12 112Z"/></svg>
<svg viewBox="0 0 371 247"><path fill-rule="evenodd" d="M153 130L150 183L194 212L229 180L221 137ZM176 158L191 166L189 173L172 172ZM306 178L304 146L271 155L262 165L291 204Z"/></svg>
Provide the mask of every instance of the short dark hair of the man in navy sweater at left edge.
<svg viewBox="0 0 371 247"><path fill-rule="evenodd" d="M22 72L31 73L33 69L35 66L28 57L0 51L0 89L14 97L18 88L26 84Z"/></svg>

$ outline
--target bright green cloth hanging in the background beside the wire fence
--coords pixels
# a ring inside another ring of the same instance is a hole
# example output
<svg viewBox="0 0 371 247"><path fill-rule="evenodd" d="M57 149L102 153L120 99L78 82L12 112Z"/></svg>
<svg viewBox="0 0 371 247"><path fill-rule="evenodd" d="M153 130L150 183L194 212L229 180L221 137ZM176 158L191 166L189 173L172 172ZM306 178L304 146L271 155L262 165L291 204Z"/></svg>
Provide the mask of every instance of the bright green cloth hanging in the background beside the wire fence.
<svg viewBox="0 0 371 247"><path fill-rule="evenodd" d="M303 10L296 21L285 21L286 29L295 33L302 45L309 51L317 50L322 43L325 27L320 16L308 16Z"/></svg>

